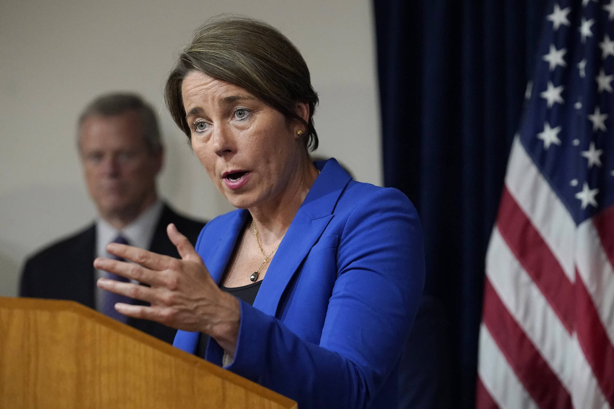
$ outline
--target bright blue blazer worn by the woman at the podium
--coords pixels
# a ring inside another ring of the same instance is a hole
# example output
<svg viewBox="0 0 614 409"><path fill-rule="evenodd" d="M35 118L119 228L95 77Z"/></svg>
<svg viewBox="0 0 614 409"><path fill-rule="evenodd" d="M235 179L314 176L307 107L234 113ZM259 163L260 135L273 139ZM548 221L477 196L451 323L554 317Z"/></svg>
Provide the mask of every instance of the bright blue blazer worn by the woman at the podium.
<svg viewBox="0 0 614 409"><path fill-rule="evenodd" d="M422 230L407 197L359 183L335 159L321 170L266 271L241 302L225 367L303 408L396 408L398 364L424 286ZM219 283L247 210L204 226L196 251ZM251 272L246 272L249 274ZM194 353L198 332L174 345ZM209 340L206 359L222 364Z"/></svg>

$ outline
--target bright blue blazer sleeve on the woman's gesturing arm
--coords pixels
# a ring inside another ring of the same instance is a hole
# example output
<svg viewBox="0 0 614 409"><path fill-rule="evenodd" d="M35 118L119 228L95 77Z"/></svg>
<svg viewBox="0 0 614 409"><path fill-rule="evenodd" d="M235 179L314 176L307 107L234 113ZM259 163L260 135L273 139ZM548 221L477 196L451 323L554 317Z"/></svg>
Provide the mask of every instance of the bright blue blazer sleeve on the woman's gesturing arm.
<svg viewBox="0 0 614 409"><path fill-rule="evenodd" d="M232 372L303 408L367 408L397 363L424 286L418 213L396 189L378 189L348 216L319 345L241 302ZM222 350L209 342L207 359Z"/></svg>

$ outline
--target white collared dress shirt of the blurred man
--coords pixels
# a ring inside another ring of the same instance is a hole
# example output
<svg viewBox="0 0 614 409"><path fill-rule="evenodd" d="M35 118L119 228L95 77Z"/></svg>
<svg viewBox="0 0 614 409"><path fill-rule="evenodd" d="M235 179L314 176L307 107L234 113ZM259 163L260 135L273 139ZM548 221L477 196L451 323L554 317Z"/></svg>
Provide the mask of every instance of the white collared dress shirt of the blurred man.
<svg viewBox="0 0 614 409"><path fill-rule="evenodd" d="M149 249L155 227L160 220L163 204L160 199L157 199L150 205L141 215L138 216L132 223L121 230L115 229L111 224L104 221L101 217L96 218L96 257L111 258L111 254L107 253L107 245L113 242L118 235L123 235L131 246ZM95 269L95 297L96 310L101 311L103 300L103 289L96 286L98 278L105 277L106 271ZM133 283L138 281L131 280Z"/></svg>

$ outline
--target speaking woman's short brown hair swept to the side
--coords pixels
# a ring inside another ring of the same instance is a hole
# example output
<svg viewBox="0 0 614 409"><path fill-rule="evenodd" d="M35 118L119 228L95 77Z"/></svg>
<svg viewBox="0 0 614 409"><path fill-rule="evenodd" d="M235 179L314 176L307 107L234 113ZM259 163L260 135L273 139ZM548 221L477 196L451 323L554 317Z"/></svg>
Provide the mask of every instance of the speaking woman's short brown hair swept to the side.
<svg viewBox="0 0 614 409"><path fill-rule="evenodd" d="M173 120L190 141L181 83L190 71L200 71L254 94L288 120L305 124L305 145L318 145L313 113L318 102L309 69L297 48L277 29L246 17L216 17L196 32L169 74L165 100ZM297 102L309 105L308 121L298 115Z"/></svg>

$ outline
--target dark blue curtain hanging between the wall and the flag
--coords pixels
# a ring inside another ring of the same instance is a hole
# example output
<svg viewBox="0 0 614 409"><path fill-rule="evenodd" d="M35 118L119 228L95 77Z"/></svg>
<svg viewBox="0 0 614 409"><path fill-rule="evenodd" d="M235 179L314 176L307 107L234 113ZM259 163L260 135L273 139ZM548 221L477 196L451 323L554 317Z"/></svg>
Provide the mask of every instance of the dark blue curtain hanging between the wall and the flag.
<svg viewBox="0 0 614 409"><path fill-rule="evenodd" d="M484 257L551 10L546 0L376 0L373 6L384 182L418 208L425 292L443 307L443 318L433 320L446 321L446 331L440 324L438 331L416 327L410 340L416 347L408 350L447 351L449 367L429 376L449 375L450 385L442 386L446 407L473 408ZM419 367L414 372L429 367L429 351L411 359Z"/></svg>

